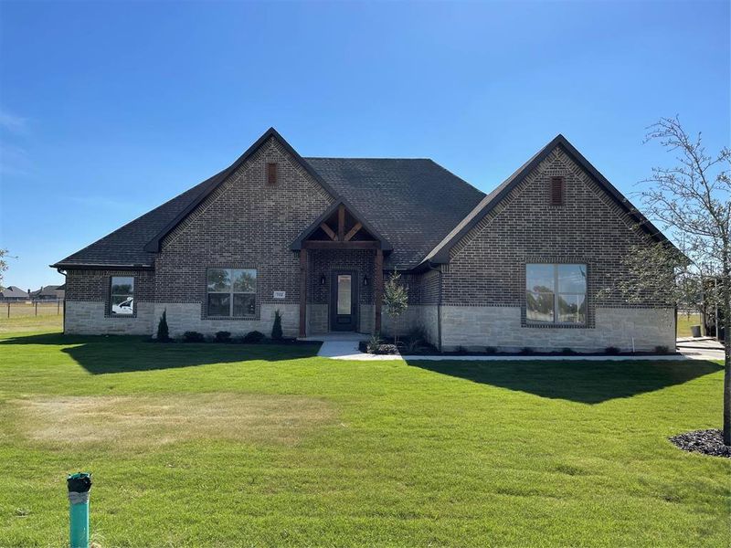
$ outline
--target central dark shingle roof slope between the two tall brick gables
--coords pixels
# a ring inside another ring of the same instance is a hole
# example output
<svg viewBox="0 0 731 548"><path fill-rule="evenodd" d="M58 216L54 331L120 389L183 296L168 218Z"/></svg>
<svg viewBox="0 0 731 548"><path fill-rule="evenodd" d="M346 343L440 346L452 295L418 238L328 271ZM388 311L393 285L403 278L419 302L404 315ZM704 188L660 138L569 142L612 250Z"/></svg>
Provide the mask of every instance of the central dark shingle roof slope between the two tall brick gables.
<svg viewBox="0 0 731 548"><path fill-rule="evenodd" d="M393 246L387 265L408 269L484 194L431 160L305 158Z"/></svg>

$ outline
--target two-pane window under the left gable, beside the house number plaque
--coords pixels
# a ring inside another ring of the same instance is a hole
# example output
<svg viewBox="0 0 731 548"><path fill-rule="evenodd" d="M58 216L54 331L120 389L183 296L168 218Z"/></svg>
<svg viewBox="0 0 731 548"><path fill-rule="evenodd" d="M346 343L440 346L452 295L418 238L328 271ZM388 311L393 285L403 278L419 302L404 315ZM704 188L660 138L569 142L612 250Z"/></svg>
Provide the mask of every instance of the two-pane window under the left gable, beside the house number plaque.
<svg viewBox="0 0 731 548"><path fill-rule="evenodd" d="M208 269L207 315L253 316L257 308L255 269Z"/></svg>

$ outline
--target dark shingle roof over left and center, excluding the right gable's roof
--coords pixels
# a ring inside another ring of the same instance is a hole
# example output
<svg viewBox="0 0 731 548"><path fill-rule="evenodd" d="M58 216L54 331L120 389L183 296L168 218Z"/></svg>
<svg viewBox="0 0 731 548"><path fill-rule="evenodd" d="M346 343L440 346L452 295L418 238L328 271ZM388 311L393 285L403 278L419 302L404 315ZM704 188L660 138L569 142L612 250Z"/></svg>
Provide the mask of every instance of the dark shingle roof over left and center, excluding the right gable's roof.
<svg viewBox="0 0 731 548"><path fill-rule="evenodd" d="M164 234L270 136L283 142L335 200L355 207L388 240L394 248L388 266L417 265L484 195L431 160L304 160L270 129L227 169L52 266L152 267Z"/></svg>

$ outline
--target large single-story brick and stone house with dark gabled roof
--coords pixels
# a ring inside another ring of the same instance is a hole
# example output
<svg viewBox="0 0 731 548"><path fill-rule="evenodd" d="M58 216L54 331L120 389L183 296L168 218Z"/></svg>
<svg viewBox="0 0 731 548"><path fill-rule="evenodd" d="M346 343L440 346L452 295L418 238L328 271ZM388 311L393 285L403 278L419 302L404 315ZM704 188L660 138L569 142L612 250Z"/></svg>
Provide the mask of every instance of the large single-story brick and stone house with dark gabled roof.
<svg viewBox="0 0 731 548"><path fill-rule="evenodd" d="M443 350L674 347L673 306L627 302L632 246L667 242L558 135L489 195L423 159L302 158L270 129L227 169L52 265L65 332L389 332Z"/></svg>

